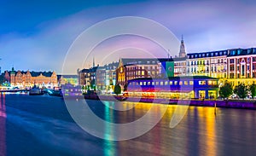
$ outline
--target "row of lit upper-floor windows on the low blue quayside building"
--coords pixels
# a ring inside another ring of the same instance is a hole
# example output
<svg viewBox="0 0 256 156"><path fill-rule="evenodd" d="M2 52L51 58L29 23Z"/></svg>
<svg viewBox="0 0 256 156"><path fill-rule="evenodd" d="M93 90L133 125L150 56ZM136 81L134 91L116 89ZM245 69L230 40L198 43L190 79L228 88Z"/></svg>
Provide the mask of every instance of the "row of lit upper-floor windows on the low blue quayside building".
<svg viewBox="0 0 256 156"><path fill-rule="evenodd" d="M153 81L153 82L132 82L130 83L133 86L137 85L194 85L194 81ZM129 85L130 85L129 84ZM206 80L201 80L198 81L199 85L218 85L218 81L211 80L211 81L206 81Z"/></svg>

